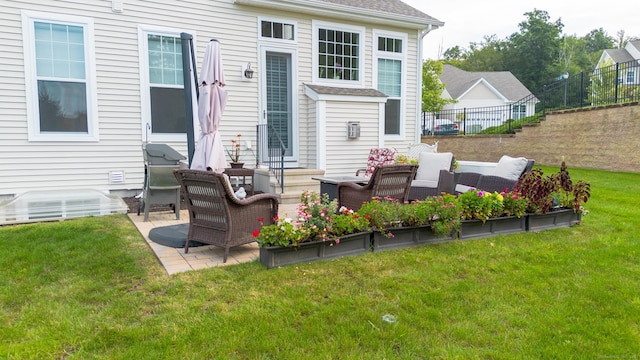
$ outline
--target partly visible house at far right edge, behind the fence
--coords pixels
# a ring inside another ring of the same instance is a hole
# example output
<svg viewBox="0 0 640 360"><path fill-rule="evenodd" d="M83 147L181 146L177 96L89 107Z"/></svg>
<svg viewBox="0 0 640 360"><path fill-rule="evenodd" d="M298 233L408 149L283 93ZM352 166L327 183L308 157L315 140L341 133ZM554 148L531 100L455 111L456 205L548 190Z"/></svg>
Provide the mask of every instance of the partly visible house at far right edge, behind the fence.
<svg viewBox="0 0 640 360"><path fill-rule="evenodd" d="M622 65L618 69L617 84L638 85L640 84L638 64L640 64L640 40L632 40L622 49L603 50L596 70ZM596 74L599 72L596 71Z"/></svg>

